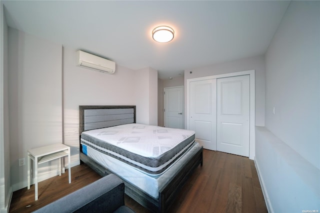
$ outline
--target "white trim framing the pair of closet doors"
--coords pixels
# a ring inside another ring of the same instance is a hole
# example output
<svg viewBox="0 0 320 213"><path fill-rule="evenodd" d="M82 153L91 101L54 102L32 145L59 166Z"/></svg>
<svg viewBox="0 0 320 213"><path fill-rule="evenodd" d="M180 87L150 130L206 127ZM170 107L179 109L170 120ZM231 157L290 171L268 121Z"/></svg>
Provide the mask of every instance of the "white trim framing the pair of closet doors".
<svg viewBox="0 0 320 213"><path fill-rule="evenodd" d="M249 127L249 158L254 159L255 156L255 70L246 70L238 72L229 72L225 74L209 75L204 77L196 77L186 79L186 129L190 128L190 82L198 80L208 80L213 78L232 77L238 75L249 75L250 79L250 127ZM184 125L185 125L184 124Z"/></svg>

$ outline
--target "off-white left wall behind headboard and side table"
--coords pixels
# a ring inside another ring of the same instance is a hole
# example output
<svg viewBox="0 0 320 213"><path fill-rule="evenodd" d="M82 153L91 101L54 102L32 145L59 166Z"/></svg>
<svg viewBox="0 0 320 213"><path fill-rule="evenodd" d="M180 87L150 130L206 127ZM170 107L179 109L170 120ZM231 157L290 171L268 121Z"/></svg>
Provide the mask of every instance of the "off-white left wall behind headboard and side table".
<svg viewBox="0 0 320 213"><path fill-rule="evenodd" d="M114 74L90 70L75 65L76 49L16 29L8 32L13 191L26 186L26 166L19 167L18 158L26 157L27 149L63 140L71 147L71 166L79 163L79 105L136 105L137 121L157 124L156 70L118 65ZM44 163L39 181L56 174L57 163Z"/></svg>

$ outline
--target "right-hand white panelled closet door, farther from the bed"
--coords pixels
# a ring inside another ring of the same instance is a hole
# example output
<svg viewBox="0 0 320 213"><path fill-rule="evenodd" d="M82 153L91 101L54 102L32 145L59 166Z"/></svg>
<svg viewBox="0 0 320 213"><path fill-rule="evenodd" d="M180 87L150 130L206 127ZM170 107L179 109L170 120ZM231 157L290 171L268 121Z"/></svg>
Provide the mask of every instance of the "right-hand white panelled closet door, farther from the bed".
<svg viewBox="0 0 320 213"><path fill-rule="evenodd" d="M250 78L217 79L217 150L249 156Z"/></svg>

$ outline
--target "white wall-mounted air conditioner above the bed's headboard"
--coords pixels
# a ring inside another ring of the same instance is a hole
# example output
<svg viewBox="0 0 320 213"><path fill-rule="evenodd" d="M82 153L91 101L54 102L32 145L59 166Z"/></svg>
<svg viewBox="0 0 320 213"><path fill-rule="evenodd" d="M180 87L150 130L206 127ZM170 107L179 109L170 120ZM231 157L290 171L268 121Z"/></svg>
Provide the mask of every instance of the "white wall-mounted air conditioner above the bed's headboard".
<svg viewBox="0 0 320 213"><path fill-rule="evenodd" d="M76 62L79 66L85 66L109 74L113 74L115 71L115 62L81 50L76 52Z"/></svg>

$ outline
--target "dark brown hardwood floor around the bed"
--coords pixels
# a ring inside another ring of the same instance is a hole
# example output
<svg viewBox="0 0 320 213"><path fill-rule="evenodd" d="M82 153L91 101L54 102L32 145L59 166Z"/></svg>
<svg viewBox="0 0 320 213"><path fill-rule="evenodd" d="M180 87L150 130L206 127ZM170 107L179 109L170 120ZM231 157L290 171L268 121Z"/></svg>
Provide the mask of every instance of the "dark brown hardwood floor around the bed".
<svg viewBox="0 0 320 213"><path fill-rule="evenodd" d="M38 183L14 191L9 212L31 212L100 178L85 164ZM125 204L136 212L149 212L125 195ZM203 150L203 166L198 166L177 194L170 212L267 212L253 160L219 151Z"/></svg>

